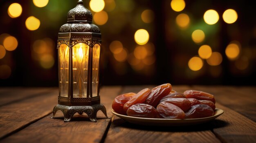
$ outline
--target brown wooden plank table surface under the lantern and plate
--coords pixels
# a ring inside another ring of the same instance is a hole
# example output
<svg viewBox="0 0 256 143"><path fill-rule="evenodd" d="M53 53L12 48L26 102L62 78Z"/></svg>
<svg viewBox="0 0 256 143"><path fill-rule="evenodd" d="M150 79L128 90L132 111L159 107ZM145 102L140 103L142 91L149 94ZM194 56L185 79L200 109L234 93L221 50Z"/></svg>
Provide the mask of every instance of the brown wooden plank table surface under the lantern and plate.
<svg viewBox="0 0 256 143"><path fill-rule="evenodd" d="M83 114L63 121L58 111L58 88L0 88L0 143L256 143L256 87L173 86L177 92L202 90L215 95L220 117L200 125L155 127L134 125L111 113L113 99L126 92L154 86L104 86L101 103L106 119L98 112L97 122Z"/></svg>

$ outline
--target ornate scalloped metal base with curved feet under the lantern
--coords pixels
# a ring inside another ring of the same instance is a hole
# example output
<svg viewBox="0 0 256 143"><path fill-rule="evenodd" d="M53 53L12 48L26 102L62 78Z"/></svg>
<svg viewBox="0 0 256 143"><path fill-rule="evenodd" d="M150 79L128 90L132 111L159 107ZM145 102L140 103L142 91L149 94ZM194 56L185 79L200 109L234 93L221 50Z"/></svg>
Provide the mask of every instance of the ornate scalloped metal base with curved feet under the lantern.
<svg viewBox="0 0 256 143"><path fill-rule="evenodd" d="M93 122L97 122L97 112L99 110L101 110L105 114L105 116L109 118L107 115L106 108L102 104L95 104L92 106L65 106L58 104L53 108L52 118L54 118L58 110L61 110L63 112L64 122L70 121L76 112L78 112L79 114L83 114L83 112L85 112L90 118L90 120Z"/></svg>

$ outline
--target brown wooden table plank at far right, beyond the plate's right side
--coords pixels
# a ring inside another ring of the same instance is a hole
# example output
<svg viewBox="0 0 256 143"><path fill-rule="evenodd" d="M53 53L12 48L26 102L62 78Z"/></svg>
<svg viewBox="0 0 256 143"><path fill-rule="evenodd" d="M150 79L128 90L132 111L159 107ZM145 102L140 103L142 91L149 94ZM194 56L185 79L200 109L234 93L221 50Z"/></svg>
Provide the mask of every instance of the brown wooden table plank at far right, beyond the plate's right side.
<svg viewBox="0 0 256 143"><path fill-rule="evenodd" d="M192 88L213 94L218 103L256 121L256 89L254 87L193 86Z"/></svg>

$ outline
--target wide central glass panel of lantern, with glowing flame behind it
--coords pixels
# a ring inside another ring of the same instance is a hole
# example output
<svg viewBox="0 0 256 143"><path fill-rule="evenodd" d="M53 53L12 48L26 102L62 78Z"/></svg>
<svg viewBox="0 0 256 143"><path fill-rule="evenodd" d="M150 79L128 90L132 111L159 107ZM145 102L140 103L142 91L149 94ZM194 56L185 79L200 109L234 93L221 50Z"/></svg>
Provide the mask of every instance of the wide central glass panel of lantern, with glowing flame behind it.
<svg viewBox="0 0 256 143"><path fill-rule="evenodd" d="M73 46L73 97L86 97L89 46L79 43Z"/></svg>

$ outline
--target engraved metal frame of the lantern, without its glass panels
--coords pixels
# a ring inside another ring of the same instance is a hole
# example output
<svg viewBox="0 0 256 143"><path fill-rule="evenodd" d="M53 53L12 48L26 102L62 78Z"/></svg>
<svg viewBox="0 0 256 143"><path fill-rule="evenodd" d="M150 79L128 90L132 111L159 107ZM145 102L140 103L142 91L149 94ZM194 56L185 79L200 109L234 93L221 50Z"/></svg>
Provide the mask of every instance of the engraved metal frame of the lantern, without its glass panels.
<svg viewBox="0 0 256 143"><path fill-rule="evenodd" d="M73 52L72 47L78 43L84 43L89 46L88 54L88 77L87 77L87 95L86 97L73 97ZM88 114L90 121L97 121L97 112L101 110L106 117L105 106L100 103L99 85L97 96L92 96L92 48L99 44L101 48L101 31L98 26L92 24L92 13L83 6L83 1L79 0L77 6L71 9L67 14L67 24L61 26L58 33L57 48L61 44L69 47L69 67L68 67L68 94L67 97L58 96L58 105L53 109L53 117L58 110L64 114L64 121L70 121L73 115L78 112ZM58 50L59 55L59 50ZM60 58L58 56L58 58ZM58 59L60 61L60 59ZM58 65L60 70L60 64ZM59 80L60 80L60 71ZM99 72L99 71L98 71ZM98 73L99 76L99 73ZM59 88L60 90L60 88ZM61 91L59 91L60 93Z"/></svg>

